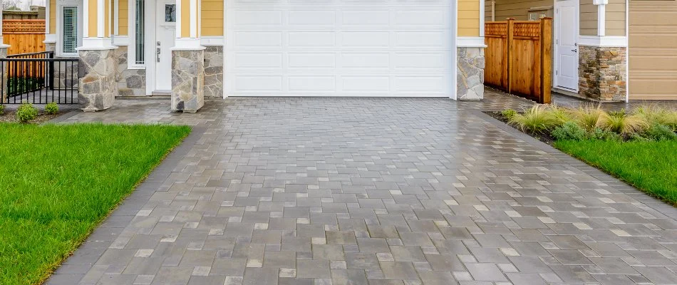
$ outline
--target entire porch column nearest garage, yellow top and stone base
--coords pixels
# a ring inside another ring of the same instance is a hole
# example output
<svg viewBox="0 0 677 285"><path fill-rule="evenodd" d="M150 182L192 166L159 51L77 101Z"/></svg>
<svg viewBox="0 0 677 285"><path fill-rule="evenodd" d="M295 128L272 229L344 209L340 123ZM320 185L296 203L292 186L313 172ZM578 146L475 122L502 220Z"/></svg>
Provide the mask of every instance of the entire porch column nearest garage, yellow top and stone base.
<svg viewBox="0 0 677 285"><path fill-rule="evenodd" d="M195 113L205 105L205 47L200 46L200 0L177 0L176 6L172 110Z"/></svg>

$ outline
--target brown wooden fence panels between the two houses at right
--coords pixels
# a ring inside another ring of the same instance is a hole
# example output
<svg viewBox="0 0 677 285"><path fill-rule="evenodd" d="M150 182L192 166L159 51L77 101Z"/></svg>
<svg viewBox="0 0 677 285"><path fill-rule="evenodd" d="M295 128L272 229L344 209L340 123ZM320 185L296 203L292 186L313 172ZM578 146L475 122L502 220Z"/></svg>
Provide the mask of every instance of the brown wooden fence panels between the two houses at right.
<svg viewBox="0 0 677 285"><path fill-rule="evenodd" d="M550 103L552 18L485 23L485 84Z"/></svg>

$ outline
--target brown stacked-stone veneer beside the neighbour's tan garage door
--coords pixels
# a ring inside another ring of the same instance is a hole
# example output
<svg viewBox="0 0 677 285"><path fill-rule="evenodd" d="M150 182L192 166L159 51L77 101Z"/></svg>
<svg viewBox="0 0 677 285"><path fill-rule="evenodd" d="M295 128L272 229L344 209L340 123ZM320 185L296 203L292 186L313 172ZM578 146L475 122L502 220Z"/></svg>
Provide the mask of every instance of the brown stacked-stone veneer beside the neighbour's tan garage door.
<svg viewBox="0 0 677 285"><path fill-rule="evenodd" d="M626 48L579 46L579 95L591 100L625 100Z"/></svg>

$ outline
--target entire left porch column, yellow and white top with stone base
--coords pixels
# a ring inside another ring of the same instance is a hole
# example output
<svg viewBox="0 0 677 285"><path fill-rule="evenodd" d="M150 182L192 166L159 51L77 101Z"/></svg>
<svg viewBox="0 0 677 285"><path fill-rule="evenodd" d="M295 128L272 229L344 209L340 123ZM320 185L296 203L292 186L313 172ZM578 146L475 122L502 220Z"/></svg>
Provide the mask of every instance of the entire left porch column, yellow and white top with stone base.
<svg viewBox="0 0 677 285"><path fill-rule="evenodd" d="M77 48L80 56L78 98L86 112L113 106L118 85L115 81L115 58L110 41L110 1L83 0L83 39Z"/></svg>

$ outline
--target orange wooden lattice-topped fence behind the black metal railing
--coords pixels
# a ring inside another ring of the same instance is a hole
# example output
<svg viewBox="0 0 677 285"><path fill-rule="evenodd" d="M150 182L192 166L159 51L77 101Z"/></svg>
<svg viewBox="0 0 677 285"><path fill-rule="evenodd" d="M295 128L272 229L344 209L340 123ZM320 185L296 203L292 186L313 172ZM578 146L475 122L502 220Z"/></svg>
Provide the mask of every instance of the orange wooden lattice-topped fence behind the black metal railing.
<svg viewBox="0 0 677 285"><path fill-rule="evenodd" d="M7 54L45 51L45 20L4 20L2 36L9 45Z"/></svg>

